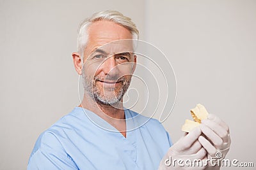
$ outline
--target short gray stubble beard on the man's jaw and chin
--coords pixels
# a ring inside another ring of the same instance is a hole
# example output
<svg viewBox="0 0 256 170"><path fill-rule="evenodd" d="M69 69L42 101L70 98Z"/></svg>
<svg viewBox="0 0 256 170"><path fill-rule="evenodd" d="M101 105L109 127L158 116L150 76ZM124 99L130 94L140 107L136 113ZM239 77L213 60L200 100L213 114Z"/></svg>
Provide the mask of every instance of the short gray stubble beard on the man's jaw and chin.
<svg viewBox="0 0 256 170"><path fill-rule="evenodd" d="M124 97L125 92L129 88L129 85L131 83L131 78L127 80L126 78L122 77L118 81L122 81L122 87L117 92L117 94L113 97L109 97L104 95L104 88L103 88L103 94L101 94L100 89L96 86L96 81L99 80L99 78L93 77L89 78L84 74L83 71L83 86L84 86L84 92L86 92L94 101L96 101L98 104L104 104L104 105L116 105L120 103L122 98ZM115 89L111 89L115 90ZM115 94L115 92L113 92Z"/></svg>

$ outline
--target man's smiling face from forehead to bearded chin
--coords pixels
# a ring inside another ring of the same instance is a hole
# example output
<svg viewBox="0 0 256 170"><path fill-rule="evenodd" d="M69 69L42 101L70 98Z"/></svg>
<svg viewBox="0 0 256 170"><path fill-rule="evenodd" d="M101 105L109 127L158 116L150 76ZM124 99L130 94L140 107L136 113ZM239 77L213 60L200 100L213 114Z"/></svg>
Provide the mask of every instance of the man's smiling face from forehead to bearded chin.
<svg viewBox="0 0 256 170"><path fill-rule="evenodd" d="M132 51L132 34L109 21L88 27L84 49L84 90L97 103L115 105L122 101L131 82L136 56Z"/></svg>

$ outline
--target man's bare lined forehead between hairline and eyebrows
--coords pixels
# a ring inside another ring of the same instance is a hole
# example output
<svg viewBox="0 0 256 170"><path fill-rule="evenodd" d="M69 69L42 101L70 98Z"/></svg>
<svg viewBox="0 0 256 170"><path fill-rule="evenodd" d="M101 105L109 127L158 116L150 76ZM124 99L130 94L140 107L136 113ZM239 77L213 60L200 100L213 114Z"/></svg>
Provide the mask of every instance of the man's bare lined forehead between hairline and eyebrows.
<svg viewBox="0 0 256 170"><path fill-rule="evenodd" d="M88 41L86 49L88 52L92 52L95 48L108 48L108 50L132 50L131 32L111 21L97 21L93 22L88 27ZM118 41L119 40L119 41Z"/></svg>

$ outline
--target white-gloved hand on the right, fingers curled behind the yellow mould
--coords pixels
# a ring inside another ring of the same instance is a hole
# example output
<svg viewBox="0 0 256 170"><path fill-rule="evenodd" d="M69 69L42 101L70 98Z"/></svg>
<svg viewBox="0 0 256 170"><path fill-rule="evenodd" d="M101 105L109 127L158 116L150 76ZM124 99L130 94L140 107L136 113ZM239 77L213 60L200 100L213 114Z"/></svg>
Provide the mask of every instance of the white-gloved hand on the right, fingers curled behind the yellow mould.
<svg viewBox="0 0 256 170"><path fill-rule="evenodd" d="M206 138L199 136L198 141L207 151L207 159L216 159L216 161L224 159L231 143L228 125L215 115L209 114L207 119L202 120L200 129ZM210 165L207 169L220 169L220 167Z"/></svg>

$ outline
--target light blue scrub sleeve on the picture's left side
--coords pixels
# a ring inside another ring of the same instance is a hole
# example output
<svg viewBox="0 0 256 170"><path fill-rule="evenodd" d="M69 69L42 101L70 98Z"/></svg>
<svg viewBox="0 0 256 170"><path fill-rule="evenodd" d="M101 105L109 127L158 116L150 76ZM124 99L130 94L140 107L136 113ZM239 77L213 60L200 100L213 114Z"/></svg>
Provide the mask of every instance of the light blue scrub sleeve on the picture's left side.
<svg viewBox="0 0 256 170"><path fill-rule="evenodd" d="M28 170L78 169L61 143L51 132L44 132L36 141L28 162Z"/></svg>

